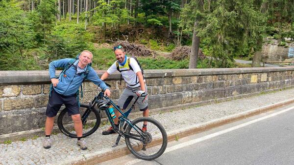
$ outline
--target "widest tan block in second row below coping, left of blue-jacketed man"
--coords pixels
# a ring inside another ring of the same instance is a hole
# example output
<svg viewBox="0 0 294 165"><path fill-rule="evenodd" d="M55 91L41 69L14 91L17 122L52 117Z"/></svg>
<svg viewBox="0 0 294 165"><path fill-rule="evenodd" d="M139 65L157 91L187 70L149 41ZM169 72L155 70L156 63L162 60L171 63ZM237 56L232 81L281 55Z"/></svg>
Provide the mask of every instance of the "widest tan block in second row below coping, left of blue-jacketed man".
<svg viewBox="0 0 294 165"><path fill-rule="evenodd" d="M6 99L4 100L4 110L16 110L25 109L33 107L33 98L23 98L23 99Z"/></svg>

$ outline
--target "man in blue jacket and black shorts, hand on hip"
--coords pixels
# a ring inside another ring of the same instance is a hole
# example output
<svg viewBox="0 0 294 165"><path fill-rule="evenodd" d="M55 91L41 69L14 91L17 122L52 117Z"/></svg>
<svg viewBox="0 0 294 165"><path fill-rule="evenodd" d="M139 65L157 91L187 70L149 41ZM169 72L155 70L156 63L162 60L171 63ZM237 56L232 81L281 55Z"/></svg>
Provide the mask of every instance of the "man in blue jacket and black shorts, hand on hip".
<svg viewBox="0 0 294 165"><path fill-rule="evenodd" d="M92 62L93 54L84 50L78 60L73 62L69 68L64 70L57 79L55 77L55 69L66 68L72 59L61 59L57 61L50 62L49 64L49 75L53 85L53 89L50 91L49 102L46 109L46 123L45 123L45 134L46 137L43 141L44 148L50 148L52 141L50 139L50 134L54 124L54 117L57 115L58 110L62 104L65 104L68 109L68 114L71 115L74 123L74 129L77 135L77 145L81 149L87 149L86 142L81 139L83 135L83 126L79 113L78 101L76 99L76 93L84 80L84 76L87 73L86 79L94 82L101 89L103 89L104 95L110 96L110 90L106 84L99 79L95 70L88 65ZM90 67L90 68L88 68Z"/></svg>

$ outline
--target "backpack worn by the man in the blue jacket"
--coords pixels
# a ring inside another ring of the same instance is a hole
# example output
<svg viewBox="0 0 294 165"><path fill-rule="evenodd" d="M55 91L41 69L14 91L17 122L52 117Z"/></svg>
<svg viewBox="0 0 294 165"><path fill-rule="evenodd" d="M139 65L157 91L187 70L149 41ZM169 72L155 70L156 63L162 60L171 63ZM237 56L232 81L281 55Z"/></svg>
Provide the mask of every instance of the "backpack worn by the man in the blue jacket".
<svg viewBox="0 0 294 165"><path fill-rule="evenodd" d="M71 61L61 71L61 73L59 74L59 76L63 74L63 77L66 77L65 72L70 67L72 67L72 65L73 65L74 62L76 62L78 60L79 55L80 54L78 54L74 59L71 59ZM92 65L92 62L91 63L88 63L88 65L86 66L86 71L83 73L83 82L86 80L86 78L87 78L87 76L88 76L88 74L89 74L89 72L91 70L91 65ZM59 77L57 77L57 78L59 78ZM81 88L81 98L83 98L83 85L82 84L80 85L80 88ZM51 96L51 91L52 90L53 90L53 84L51 83L50 84L50 94L49 94L49 96ZM76 91L76 100L77 100L78 106L80 106L80 103L79 103L79 89Z"/></svg>

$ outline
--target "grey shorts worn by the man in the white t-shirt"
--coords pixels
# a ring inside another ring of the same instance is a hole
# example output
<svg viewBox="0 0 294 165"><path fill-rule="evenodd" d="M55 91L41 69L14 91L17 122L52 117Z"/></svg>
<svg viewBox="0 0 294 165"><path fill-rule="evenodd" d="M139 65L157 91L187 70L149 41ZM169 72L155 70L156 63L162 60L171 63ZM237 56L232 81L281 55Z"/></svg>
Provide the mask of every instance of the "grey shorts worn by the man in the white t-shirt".
<svg viewBox="0 0 294 165"><path fill-rule="evenodd" d="M132 100L135 100L138 97L136 93L132 92L132 91L138 91L138 90L141 90L141 86L137 88L130 88L127 86L124 88L123 93L118 101L118 105L120 106L121 109L125 110L128 104L131 103ZM146 84L145 84L145 94L147 94ZM148 109L148 95L146 97L140 97L136 104L139 105L139 108L141 111Z"/></svg>

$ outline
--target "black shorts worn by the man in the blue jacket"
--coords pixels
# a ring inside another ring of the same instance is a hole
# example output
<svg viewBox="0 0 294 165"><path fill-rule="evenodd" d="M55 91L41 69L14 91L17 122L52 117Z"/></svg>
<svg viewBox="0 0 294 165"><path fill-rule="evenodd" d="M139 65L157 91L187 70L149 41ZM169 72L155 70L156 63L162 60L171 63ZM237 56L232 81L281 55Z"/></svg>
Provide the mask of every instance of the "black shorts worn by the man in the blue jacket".
<svg viewBox="0 0 294 165"><path fill-rule="evenodd" d="M75 95L63 96L55 92L53 89L47 104L46 116L56 116L62 104L67 108L69 116L79 114L79 107Z"/></svg>

